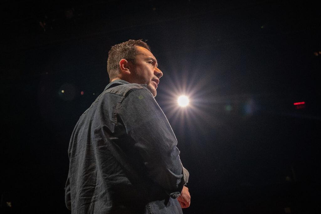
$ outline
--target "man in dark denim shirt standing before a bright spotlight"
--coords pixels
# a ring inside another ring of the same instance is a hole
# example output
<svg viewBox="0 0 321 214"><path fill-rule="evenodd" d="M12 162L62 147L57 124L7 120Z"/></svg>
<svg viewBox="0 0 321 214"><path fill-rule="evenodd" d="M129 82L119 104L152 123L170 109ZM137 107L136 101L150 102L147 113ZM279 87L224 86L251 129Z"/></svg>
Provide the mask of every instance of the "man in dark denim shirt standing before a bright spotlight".
<svg viewBox="0 0 321 214"><path fill-rule="evenodd" d="M182 213L190 195L176 137L154 97L163 73L142 40L108 53L110 83L78 120L65 202L72 213Z"/></svg>

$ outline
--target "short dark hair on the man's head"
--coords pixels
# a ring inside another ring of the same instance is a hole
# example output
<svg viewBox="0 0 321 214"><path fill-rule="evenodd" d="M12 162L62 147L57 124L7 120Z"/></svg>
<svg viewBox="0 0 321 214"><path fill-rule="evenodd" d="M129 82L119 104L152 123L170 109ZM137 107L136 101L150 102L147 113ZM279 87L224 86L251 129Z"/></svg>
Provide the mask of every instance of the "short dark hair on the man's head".
<svg viewBox="0 0 321 214"><path fill-rule="evenodd" d="M119 61L121 59L126 59L127 61L135 63L135 58L138 54L135 46L141 46L151 51L150 47L146 44L146 42L143 42L142 39L130 39L126 42L122 42L111 47L110 51L108 52L107 60L107 72L110 81L119 75Z"/></svg>

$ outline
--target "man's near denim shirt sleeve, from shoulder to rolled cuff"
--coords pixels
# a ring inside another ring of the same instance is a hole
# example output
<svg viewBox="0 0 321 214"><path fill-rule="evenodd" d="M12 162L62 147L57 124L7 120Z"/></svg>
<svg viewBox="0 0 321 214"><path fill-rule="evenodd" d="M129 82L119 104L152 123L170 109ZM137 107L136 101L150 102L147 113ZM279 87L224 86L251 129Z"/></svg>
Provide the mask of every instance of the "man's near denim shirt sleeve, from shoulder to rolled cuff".
<svg viewBox="0 0 321 214"><path fill-rule="evenodd" d="M148 176L169 196L177 198L186 184L177 140L150 91L130 90L118 109L118 116L126 133L134 139L134 147L143 158Z"/></svg>

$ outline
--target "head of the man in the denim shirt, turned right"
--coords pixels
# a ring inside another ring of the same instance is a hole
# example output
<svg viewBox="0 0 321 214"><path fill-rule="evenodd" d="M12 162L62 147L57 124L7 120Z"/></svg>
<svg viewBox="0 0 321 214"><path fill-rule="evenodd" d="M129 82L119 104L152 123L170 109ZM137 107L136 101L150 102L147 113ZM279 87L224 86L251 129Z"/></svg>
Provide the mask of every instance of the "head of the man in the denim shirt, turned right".
<svg viewBox="0 0 321 214"><path fill-rule="evenodd" d="M146 84L154 97L159 78L163 75L157 66L155 56L142 40L117 44L108 53L107 71L110 81L122 79L129 83Z"/></svg>

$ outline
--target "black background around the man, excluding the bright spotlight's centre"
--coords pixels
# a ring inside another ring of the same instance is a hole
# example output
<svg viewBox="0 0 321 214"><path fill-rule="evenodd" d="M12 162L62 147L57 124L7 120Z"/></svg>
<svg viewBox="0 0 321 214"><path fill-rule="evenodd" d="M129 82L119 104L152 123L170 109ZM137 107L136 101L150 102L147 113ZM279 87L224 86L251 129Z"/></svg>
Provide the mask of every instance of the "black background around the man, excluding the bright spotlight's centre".
<svg viewBox="0 0 321 214"><path fill-rule="evenodd" d="M109 82L110 47L143 39L164 73L156 100L190 172L184 213L320 213L317 4L0 5L1 212L68 213L74 125ZM177 107L180 94L189 107Z"/></svg>

